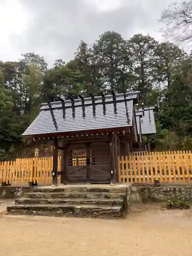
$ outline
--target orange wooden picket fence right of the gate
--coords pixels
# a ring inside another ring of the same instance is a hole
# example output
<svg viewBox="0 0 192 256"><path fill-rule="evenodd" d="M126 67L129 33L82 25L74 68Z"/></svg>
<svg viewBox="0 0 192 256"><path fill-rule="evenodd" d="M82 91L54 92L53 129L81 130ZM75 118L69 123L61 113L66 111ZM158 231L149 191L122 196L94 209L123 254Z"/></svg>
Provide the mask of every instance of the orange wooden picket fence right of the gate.
<svg viewBox="0 0 192 256"><path fill-rule="evenodd" d="M191 151L137 152L118 157L119 182L190 182Z"/></svg>

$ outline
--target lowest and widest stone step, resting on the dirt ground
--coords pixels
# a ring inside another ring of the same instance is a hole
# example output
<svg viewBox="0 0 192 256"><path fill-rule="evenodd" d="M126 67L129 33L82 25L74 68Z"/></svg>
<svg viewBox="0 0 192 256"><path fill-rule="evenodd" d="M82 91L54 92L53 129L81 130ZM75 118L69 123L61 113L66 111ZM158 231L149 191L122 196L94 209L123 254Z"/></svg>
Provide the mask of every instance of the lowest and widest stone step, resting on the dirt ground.
<svg viewBox="0 0 192 256"><path fill-rule="evenodd" d="M7 214L12 215L38 215L55 217L123 217L121 206L93 206L93 205L18 205L7 207Z"/></svg>

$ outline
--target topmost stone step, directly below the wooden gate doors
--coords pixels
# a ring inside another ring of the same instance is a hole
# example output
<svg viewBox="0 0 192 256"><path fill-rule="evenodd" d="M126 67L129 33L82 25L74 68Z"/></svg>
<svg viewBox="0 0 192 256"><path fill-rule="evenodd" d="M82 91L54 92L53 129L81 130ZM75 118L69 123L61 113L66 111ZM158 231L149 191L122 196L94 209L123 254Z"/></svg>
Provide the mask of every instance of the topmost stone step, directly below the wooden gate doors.
<svg viewBox="0 0 192 256"><path fill-rule="evenodd" d="M45 186L45 187L35 187L32 189L33 192L75 192L75 193L81 193L81 192L90 192L90 193L126 193L127 186L115 186L115 185L108 185L108 186Z"/></svg>

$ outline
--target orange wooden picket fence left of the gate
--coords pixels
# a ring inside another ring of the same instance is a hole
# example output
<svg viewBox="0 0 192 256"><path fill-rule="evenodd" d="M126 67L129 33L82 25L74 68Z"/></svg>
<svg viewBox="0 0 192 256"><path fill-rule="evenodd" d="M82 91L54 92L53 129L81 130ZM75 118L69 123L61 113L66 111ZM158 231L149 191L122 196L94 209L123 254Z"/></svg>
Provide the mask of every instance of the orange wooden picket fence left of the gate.
<svg viewBox="0 0 192 256"><path fill-rule="evenodd" d="M20 158L15 161L0 162L0 183L29 184L37 181L38 184L52 184L53 157ZM58 170L61 169L61 158L58 157ZM60 176L58 176L60 182Z"/></svg>

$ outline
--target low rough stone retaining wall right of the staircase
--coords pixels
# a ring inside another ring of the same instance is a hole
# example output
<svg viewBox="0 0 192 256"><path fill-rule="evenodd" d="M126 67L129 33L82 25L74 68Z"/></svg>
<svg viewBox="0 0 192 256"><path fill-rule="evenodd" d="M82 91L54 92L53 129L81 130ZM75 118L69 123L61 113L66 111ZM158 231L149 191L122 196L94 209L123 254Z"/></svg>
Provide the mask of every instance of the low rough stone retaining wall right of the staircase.
<svg viewBox="0 0 192 256"><path fill-rule="evenodd" d="M134 202L166 202L170 199L192 202L192 185L166 185L160 187L133 185L131 187L130 204Z"/></svg>

